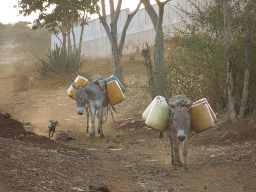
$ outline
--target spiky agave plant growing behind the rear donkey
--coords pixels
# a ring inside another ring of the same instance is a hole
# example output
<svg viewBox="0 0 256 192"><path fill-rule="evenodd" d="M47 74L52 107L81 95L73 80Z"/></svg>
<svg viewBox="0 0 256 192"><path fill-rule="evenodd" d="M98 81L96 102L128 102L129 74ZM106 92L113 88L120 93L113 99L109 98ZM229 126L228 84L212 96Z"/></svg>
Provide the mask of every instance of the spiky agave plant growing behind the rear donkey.
<svg viewBox="0 0 256 192"><path fill-rule="evenodd" d="M85 75L83 70L85 60L82 60L81 54L74 50L71 52L66 47L57 47L55 50L49 49L46 59L38 58L40 61L37 77L45 85L54 87L70 84L71 80L77 75Z"/></svg>

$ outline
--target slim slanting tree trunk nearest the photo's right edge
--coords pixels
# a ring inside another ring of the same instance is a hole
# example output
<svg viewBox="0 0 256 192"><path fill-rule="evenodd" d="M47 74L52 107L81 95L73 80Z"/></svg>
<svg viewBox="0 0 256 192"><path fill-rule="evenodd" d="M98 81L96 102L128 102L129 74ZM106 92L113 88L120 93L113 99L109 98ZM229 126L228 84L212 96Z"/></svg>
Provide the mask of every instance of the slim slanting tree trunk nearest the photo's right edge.
<svg viewBox="0 0 256 192"><path fill-rule="evenodd" d="M250 77L250 53L252 51L252 37L254 35L254 28L256 24L256 4L254 6L254 22L251 23L252 27L248 29L248 38L245 40L245 62L244 62L244 85L243 85L243 94L242 94L242 101L239 111L239 117L245 116L245 109L248 100L248 88L249 88L249 77Z"/></svg>

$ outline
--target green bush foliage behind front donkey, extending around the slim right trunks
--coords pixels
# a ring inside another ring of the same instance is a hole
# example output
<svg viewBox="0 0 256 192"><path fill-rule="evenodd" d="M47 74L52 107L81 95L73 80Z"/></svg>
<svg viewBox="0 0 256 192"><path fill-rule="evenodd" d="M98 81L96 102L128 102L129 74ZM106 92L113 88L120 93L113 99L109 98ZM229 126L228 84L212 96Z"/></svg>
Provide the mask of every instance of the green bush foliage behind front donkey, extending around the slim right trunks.
<svg viewBox="0 0 256 192"><path fill-rule="evenodd" d="M235 65L235 84L237 106L240 105L243 91L243 68L245 61L245 38L253 20L255 0L234 1L230 10L232 23L233 51L237 58ZM166 65L162 69L168 77L168 94L186 95L189 98L205 97L215 110L228 106L227 95L227 57L225 55L225 36L223 7L221 1L201 1L191 4L192 13L180 8L186 15L184 30L177 28L174 36L165 36L165 45L170 46ZM175 10L175 7L173 10ZM178 7L179 8L179 7ZM245 17L246 16L246 17ZM254 34L252 47L255 49ZM256 103L256 58L251 52L248 112Z"/></svg>

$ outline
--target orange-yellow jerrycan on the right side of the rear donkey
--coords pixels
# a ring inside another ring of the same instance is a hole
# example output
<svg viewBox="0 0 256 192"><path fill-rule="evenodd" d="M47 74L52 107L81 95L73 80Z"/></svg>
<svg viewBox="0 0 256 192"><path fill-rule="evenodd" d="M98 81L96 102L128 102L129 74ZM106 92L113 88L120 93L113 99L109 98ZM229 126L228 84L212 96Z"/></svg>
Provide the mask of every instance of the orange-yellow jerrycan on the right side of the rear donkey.
<svg viewBox="0 0 256 192"><path fill-rule="evenodd" d="M107 97L111 105L119 104L125 100L124 92L122 92L119 83L116 80L107 82Z"/></svg>

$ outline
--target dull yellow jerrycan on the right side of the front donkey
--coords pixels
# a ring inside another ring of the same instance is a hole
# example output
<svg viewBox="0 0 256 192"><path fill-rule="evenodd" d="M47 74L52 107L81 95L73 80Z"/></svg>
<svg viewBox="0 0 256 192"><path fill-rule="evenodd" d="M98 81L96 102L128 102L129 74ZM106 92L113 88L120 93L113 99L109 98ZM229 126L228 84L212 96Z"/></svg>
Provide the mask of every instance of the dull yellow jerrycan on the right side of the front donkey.
<svg viewBox="0 0 256 192"><path fill-rule="evenodd" d="M190 120L195 132L205 131L215 126L209 107L204 102L191 107Z"/></svg>

